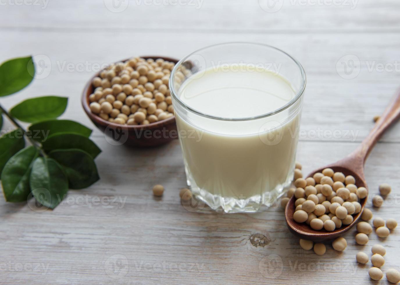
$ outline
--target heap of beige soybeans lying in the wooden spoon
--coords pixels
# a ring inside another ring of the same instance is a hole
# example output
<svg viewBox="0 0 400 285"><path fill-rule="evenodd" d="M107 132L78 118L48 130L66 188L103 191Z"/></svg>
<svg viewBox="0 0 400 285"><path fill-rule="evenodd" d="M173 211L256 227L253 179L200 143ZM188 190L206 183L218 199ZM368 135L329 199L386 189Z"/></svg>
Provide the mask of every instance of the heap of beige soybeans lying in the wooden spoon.
<svg viewBox="0 0 400 285"><path fill-rule="evenodd" d="M296 188L290 188L287 197L294 195L296 198L294 221L306 223L317 231L325 229L330 232L342 225L350 225L353 215L360 213L359 201L367 197L368 190L365 187L357 187L353 176L345 176L330 168L306 179L300 175L300 169L296 168Z"/></svg>

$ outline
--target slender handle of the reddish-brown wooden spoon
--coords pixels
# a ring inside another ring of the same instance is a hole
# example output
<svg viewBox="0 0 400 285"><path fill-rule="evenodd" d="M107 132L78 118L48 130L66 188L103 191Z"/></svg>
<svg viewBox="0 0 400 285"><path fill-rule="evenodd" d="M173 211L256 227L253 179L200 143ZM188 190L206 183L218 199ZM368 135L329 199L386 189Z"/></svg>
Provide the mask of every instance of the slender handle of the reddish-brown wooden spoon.
<svg viewBox="0 0 400 285"><path fill-rule="evenodd" d="M352 156L356 156L360 159L360 163L364 165L368 155L372 151L376 142L382 136L382 134L400 118L400 91L390 101L386 107L382 116L376 122L374 128L368 134L368 136L361 142L360 147L354 151Z"/></svg>

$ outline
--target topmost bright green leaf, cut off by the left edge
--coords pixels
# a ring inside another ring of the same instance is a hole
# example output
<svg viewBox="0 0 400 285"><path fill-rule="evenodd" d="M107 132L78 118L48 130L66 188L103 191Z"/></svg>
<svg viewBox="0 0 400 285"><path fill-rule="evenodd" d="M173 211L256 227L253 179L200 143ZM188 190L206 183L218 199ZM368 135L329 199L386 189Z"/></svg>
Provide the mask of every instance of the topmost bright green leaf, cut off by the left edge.
<svg viewBox="0 0 400 285"><path fill-rule="evenodd" d="M28 86L35 75L32 56L14 58L0 65L0 97L11 95Z"/></svg>

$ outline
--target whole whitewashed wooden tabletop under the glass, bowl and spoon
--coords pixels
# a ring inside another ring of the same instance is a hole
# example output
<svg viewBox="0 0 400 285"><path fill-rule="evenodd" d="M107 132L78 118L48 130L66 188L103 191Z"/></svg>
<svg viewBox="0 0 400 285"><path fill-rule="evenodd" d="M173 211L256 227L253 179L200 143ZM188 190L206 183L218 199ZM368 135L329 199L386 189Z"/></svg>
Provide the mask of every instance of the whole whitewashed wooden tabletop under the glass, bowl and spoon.
<svg viewBox="0 0 400 285"><path fill-rule="evenodd" d="M296 57L307 73L297 154L306 174L352 151L400 87L398 0L360 0L355 7L344 0L285 1L273 13L258 0L204 0L201 6L131 0L122 12L108 10L108 0L29 3L0 1L0 61L32 54L44 60L48 75L0 101L10 108L30 96L68 96L63 117L94 128L103 150L96 159L101 180L69 191L54 211L38 213L0 198L0 283L368 284L376 283L368 277L370 265L357 265L355 255L370 255L375 243L388 251L383 271L399 270L400 229L383 241L372 233L364 247L355 245L352 229L345 252L328 245L318 257L300 249L279 207L235 215L187 211L178 196L186 186L178 141L145 150L112 146L80 106L93 64L144 54L181 58L220 42L271 44ZM360 69L344 74L341 61L354 59ZM3 130L11 127L5 122ZM365 172L370 193L380 183L393 189L374 215L398 221L399 161L397 124L378 142ZM157 183L166 187L162 199L152 196ZM264 246L252 244L254 234L266 237Z"/></svg>

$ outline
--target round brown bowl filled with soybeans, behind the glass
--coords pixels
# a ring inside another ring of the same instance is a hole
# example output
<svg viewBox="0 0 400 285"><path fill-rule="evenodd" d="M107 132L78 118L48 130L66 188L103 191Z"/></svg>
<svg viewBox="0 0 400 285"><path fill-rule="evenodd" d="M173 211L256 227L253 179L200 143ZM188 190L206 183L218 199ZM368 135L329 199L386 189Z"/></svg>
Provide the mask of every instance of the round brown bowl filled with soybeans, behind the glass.
<svg viewBox="0 0 400 285"><path fill-rule="evenodd" d="M176 62L143 56L110 64L84 89L86 114L114 140L122 136L118 144L149 147L177 138L169 90L169 74Z"/></svg>

